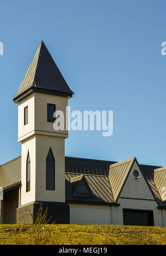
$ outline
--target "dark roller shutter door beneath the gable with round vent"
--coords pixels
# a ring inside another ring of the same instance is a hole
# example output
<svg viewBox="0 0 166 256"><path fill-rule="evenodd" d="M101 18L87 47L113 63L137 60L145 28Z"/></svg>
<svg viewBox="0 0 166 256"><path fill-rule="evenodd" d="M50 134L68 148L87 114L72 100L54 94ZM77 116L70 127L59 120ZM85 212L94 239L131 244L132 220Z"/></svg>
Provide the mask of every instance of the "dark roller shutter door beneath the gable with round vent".
<svg viewBox="0 0 166 256"><path fill-rule="evenodd" d="M123 209L123 225L154 226L153 211Z"/></svg>

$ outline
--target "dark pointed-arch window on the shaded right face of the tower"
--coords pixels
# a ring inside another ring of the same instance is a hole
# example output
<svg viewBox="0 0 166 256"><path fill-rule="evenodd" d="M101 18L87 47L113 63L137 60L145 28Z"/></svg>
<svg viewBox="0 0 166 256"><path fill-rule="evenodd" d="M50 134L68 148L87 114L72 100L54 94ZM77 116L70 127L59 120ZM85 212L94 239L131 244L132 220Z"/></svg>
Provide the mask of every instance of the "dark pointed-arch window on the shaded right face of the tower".
<svg viewBox="0 0 166 256"><path fill-rule="evenodd" d="M51 148L46 157L46 190L55 190L55 159Z"/></svg>

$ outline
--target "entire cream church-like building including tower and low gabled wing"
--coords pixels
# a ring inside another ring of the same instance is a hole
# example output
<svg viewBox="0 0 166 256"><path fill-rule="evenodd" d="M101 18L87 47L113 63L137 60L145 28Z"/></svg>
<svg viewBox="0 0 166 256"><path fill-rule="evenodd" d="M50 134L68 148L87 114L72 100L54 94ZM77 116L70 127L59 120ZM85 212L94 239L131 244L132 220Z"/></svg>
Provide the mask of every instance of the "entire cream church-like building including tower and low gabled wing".
<svg viewBox="0 0 166 256"><path fill-rule="evenodd" d="M53 113L72 95L42 41L13 98L22 155L0 165L1 224L32 223L42 202L55 223L166 227L166 167L65 156Z"/></svg>

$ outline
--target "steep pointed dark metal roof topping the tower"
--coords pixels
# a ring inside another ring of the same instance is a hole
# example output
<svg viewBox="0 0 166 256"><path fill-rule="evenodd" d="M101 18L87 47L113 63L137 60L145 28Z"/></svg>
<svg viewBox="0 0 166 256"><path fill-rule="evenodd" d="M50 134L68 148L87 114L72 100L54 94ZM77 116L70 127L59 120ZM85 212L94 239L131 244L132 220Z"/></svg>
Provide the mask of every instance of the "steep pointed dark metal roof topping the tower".
<svg viewBox="0 0 166 256"><path fill-rule="evenodd" d="M72 97L72 92L42 41L13 100L32 92Z"/></svg>

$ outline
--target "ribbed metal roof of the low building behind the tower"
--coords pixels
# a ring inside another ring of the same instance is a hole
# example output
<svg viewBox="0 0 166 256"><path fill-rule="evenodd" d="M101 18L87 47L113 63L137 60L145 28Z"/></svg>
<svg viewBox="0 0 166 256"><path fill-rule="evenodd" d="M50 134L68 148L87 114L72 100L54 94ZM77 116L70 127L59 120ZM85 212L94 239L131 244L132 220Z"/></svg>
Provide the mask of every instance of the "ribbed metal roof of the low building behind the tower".
<svg viewBox="0 0 166 256"><path fill-rule="evenodd" d="M118 191L120 191L120 189L122 188L123 181L125 181L125 177L127 176L129 168L132 165L132 161L134 161L134 157L132 159L128 159L119 163L113 161L65 157L66 201L94 201L102 203L115 202ZM162 188L163 184L165 184L164 179L166 175L166 168L157 169L157 166L140 166L143 169L143 174L149 184L149 187L151 188L151 191L158 205L166 206L166 200L162 201L161 194L159 193L159 191L161 190L160 188ZM110 173L108 175L109 169ZM155 180L149 179L149 177L152 177L154 173L159 175L159 177L155 176ZM92 193L94 194L92 198L72 196L70 179L78 178L79 181L82 178L82 175L85 175L86 181L90 189L92 190ZM15 159L8 161L3 165L0 165L1 187L7 188L8 186L20 183L20 180L21 156L16 157Z"/></svg>

